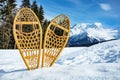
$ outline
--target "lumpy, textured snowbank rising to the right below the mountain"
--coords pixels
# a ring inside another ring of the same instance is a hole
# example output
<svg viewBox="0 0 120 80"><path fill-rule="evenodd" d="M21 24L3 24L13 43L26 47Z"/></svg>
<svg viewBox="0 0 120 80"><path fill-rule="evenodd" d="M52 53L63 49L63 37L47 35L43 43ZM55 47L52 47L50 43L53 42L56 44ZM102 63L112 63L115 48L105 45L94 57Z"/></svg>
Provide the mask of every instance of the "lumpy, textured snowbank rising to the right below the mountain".
<svg viewBox="0 0 120 80"><path fill-rule="evenodd" d="M63 54L60 64L120 63L120 40L99 43L91 47Z"/></svg>

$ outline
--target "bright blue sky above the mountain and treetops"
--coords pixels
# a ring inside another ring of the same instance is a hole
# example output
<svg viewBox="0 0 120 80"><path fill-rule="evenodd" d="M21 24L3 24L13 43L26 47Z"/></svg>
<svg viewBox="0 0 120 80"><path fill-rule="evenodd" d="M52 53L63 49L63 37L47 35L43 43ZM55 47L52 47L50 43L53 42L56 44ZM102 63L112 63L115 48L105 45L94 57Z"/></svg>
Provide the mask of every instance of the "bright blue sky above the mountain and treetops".
<svg viewBox="0 0 120 80"><path fill-rule="evenodd" d="M17 0L20 5L21 0ZM32 3L34 0L30 0ZM45 18L52 20L60 14L70 18L71 27L77 23L100 22L105 27L120 27L120 0L36 0L44 8Z"/></svg>

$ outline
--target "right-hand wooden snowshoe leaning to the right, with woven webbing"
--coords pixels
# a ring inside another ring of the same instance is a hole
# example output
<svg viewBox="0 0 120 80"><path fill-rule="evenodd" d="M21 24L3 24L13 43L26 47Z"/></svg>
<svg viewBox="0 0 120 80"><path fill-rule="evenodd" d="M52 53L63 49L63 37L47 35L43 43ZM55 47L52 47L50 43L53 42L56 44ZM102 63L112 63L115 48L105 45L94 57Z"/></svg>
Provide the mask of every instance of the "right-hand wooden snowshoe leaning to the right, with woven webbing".
<svg viewBox="0 0 120 80"><path fill-rule="evenodd" d="M51 67L66 46L70 33L69 18L62 14L54 18L46 33L42 54L42 67Z"/></svg>

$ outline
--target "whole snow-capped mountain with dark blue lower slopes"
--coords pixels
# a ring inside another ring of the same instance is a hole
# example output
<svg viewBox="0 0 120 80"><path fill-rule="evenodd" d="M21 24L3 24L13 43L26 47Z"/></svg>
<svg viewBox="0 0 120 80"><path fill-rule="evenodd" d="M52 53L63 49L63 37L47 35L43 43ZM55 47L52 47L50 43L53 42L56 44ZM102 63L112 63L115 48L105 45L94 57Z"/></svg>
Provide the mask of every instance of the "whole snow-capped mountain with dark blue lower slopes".
<svg viewBox="0 0 120 80"><path fill-rule="evenodd" d="M116 39L118 31L104 28L99 22L80 23L70 30L69 46L90 46L95 43Z"/></svg>

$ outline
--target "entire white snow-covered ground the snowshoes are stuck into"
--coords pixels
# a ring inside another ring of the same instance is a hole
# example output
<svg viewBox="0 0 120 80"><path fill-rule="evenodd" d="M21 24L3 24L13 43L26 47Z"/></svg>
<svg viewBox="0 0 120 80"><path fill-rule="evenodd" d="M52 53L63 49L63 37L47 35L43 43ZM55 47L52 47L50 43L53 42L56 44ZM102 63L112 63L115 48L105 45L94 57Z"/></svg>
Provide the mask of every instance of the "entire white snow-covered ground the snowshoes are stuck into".
<svg viewBox="0 0 120 80"><path fill-rule="evenodd" d="M0 80L120 80L120 40L65 48L53 67L30 71L18 50L0 50Z"/></svg>

